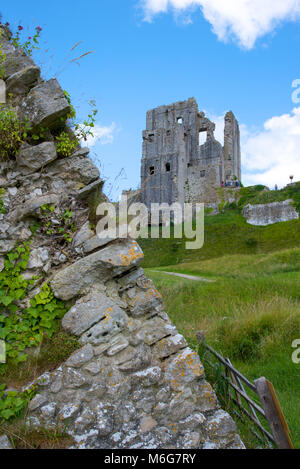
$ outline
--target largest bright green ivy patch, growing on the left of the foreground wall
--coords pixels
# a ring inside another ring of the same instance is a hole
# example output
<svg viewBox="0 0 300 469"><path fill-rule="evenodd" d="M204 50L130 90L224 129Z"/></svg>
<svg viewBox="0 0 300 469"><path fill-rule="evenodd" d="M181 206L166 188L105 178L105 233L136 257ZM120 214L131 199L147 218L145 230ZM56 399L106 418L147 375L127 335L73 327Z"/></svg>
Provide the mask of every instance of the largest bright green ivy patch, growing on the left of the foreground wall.
<svg viewBox="0 0 300 469"><path fill-rule="evenodd" d="M7 359L14 364L26 361L24 350L37 347L46 334L48 337L58 330L59 320L66 313L65 304L54 297L48 284L30 300L30 306L22 311L18 301L27 296L33 282L24 280L30 255L29 245L24 243L6 255L4 269L0 272L0 339L6 343ZM0 374L6 365L0 365Z"/></svg>

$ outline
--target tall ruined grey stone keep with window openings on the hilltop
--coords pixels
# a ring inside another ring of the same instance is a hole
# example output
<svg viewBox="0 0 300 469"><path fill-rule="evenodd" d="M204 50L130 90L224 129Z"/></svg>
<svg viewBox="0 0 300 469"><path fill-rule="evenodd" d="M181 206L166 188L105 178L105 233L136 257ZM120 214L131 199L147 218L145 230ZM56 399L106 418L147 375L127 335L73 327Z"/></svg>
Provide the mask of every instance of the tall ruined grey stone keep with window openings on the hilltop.
<svg viewBox="0 0 300 469"><path fill-rule="evenodd" d="M151 203L215 203L222 181L241 179L239 125L225 116L224 147L194 98L147 112L141 197ZM204 137L204 142L203 141Z"/></svg>

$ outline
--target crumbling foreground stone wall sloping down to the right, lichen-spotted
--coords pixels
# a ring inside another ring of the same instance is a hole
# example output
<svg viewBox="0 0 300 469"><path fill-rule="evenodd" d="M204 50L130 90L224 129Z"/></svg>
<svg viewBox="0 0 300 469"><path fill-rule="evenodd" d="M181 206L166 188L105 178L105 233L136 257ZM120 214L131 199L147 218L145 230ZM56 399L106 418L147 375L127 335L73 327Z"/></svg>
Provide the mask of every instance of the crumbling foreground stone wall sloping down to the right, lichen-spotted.
<svg viewBox="0 0 300 469"><path fill-rule="evenodd" d="M27 424L67 427L75 448L243 448L199 356L171 323L140 267L138 244L101 240L91 229L89 197L101 191L103 181L87 149L78 147L65 158L57 154L53 129L65 125L69 110L59 84L42 80L30 59L4 45L16 112L43 122L48 132L42 143L22 145L16 158L0 163L6 208L0 215L0 261L16 242L30 241L24 275L39 275L30 297L50 284L68 306L62 327L81 347L34 382L38 391ZM72 210L71 243L43 225L32 235L45 204L53 207L53 225ZM7 445L5 437L0 441Z"/></svg>

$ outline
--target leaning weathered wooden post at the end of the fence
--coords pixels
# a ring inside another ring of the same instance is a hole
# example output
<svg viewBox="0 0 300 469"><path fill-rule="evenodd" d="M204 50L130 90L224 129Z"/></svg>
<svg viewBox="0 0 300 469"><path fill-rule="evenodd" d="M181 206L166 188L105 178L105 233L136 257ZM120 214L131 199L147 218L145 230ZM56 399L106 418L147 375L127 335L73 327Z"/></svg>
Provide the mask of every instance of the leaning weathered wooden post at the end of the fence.
<svg viewBox="0 0 300 469"><path fill-rule="evenodd" d="M290 431L273 384L264 377L255 380L254 383L277 447L293 449Z"/></svg>

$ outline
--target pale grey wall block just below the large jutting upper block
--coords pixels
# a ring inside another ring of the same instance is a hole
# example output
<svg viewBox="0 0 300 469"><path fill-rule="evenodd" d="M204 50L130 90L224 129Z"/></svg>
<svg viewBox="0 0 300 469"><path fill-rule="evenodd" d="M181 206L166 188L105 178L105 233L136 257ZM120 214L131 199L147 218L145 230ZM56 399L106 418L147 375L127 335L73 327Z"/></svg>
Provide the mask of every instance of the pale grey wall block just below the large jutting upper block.
<svg viewBox="0 0 300 469"><path fill-rule="evenodd" d="M43 142L35 146L23 146L17 154L17 163L23 174L28 174L56 160L57 153L53 142Z"/></svg>

